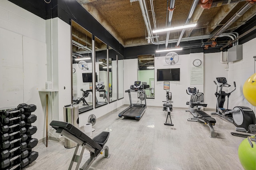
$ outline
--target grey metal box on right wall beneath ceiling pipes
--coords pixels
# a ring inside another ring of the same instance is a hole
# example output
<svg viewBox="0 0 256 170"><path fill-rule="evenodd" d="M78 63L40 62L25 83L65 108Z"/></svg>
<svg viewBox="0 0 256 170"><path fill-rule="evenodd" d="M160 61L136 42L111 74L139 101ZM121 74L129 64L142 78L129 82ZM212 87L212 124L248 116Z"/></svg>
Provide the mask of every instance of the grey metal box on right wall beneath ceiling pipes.
<svg viewBox="0 0 256 170"><path fill-rule="evenodd" d="M228 49L228 62L234 62L243 59L243 46L235 45Z"/></svg>

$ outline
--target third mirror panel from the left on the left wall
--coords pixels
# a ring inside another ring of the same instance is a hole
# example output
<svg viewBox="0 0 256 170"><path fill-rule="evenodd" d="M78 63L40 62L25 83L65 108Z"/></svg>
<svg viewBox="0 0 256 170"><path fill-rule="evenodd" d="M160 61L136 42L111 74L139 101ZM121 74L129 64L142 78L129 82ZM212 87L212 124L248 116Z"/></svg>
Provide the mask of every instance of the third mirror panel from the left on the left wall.
<svg viewBox="0 0 256 170"><path fill-rule="evenodd" d="M117 100L117 53L108 48L108 87L109 87L109 103Z"/></svg>

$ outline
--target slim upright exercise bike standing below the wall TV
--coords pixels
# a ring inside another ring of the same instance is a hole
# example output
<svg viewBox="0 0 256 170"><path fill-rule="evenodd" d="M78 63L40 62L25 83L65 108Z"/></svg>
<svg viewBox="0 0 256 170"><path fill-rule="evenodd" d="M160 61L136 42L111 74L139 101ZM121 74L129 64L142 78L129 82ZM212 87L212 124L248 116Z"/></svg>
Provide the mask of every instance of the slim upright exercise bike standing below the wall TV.
<svg viewBox="0 0 256 170"><path fill-rule="evenodd" d="M169 90L170 90L170 86L165 86L165 85L164 85L164 90L166 90L166 103L163 104L163 111L167 111L167 113L168 113L164 125L173 126L173 124L172 124L172 118L171 118L171 111L172 111L172 101L171 101L171 100L172 100L172 93L169 91ZM163 101L163 102L165 102L165 101ZM168 116L170 116L170 121L171 121L171 123L167 123Z"/></svg>

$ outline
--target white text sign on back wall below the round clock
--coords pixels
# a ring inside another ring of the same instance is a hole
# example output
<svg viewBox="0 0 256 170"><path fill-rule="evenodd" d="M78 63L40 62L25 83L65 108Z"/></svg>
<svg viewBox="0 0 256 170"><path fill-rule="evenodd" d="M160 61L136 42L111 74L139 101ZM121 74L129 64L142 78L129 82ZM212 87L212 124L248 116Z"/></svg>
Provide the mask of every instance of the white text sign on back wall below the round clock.
<svg viewBox="0 0 256 170"><path fill-rule="evenodd" d="M204 67L191 67L190 84L191 85L204 84Z"/></svg>

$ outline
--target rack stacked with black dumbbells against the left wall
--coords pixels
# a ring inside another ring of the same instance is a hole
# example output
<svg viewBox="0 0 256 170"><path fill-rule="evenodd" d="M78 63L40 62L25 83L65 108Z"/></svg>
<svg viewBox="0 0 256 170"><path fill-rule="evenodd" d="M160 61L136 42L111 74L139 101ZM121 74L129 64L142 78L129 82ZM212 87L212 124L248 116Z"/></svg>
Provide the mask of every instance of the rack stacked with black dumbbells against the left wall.
<svg viewBox="0 0 256 170"><path fill-rule="evenodd" d="M21 170L38 157L38 152L32 151L38 144L32 134L37 119L31 114L36 105L19 104L18 107L0 108L0 169Z"/></svg>

